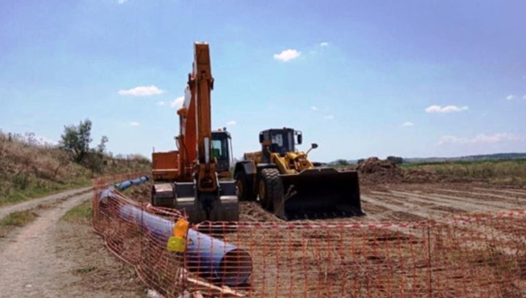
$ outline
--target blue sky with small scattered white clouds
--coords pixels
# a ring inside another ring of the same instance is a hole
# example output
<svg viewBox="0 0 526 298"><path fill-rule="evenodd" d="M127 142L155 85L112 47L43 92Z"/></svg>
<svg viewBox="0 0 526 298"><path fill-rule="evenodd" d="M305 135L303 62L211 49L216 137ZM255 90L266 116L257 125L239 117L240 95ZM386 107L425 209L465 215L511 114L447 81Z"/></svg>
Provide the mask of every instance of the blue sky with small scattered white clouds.
<svg viewBox="0 0 526 298"><path fill-rule="evenodd" d="M524 1L1 1L0 129L90 118L114 153L175 148L192 42L234 154L291 126L312 159L526 150ZM143 95L143 96L136 96ZM164 105L162 105L164 103ZM175 107L172 107L174 105Z"/></svg>

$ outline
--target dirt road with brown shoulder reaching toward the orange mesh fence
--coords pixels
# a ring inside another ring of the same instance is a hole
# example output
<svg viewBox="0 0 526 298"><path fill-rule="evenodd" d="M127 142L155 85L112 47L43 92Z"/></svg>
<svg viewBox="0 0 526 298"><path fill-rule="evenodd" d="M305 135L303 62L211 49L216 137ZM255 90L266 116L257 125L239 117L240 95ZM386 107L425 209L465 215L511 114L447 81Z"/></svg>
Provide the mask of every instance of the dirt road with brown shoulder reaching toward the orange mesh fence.
<svg viewBox="0 0 526 298"><path fill-rule="evenodd" d="M60 220L91 198L90 191L77 189L27 202L31 203L27 206L54 204L37 211L38 218L29 225L0 239L0 297L137 297L141 293L133 271L120 272L125 265L110 256L89 223ZM8 208L14 207L21 208Z"/></svg>

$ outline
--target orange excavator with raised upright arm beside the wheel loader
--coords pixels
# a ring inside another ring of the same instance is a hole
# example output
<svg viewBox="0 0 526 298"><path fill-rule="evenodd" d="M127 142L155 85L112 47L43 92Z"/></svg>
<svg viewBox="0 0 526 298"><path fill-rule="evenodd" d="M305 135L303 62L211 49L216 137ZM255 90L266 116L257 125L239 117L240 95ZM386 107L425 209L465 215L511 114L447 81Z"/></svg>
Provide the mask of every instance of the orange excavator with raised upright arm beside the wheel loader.
<svg viewBox="0 0 526 298"><path fill-rule="evenodd" d="M209 47L196 42L194 49L184 104L177 111L178 150L152 154L151 203L184 211L194 223L238 221L236 184L220 180L230 176L231 137L226 130L212 131Z"/></svg>

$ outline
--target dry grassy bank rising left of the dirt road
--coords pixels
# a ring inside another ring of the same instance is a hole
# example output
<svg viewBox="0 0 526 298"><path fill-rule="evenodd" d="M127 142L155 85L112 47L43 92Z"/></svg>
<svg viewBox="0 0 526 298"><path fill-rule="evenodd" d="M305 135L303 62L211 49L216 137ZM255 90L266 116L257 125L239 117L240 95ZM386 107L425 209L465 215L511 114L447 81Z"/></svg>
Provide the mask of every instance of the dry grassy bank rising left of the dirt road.
<svg viewBox="0 0 526 298"><path fill-rule="evenodd" d="M0 206L66 189L90 185L101 174L147 172L149 161L140 157L104 157L101 173L73 163L57 146L38 144L20 135L0 131Z"/></svg>

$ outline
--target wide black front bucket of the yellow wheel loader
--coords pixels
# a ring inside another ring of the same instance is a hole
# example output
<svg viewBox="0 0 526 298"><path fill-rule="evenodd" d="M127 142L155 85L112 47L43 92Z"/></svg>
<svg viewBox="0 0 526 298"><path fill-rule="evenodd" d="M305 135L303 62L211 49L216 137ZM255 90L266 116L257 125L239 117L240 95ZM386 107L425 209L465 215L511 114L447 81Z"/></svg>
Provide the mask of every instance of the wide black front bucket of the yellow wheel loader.
<svg viewBox="0 0 526 298"><path fill-rule="evenodd" d="M274 202L281 219L321 219L364 215L358 172L331 168L281 175L284 196Z"/></svg>

